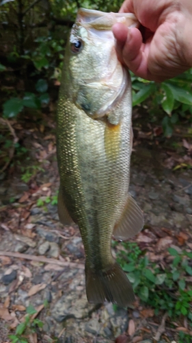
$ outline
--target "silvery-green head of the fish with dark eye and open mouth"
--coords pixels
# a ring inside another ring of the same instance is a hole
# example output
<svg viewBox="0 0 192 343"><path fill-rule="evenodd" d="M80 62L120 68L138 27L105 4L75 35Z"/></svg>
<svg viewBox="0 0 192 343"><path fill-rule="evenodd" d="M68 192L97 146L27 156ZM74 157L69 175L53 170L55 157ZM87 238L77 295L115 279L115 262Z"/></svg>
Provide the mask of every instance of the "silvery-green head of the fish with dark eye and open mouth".
<svg viewBox="0 0 192 343"><path fill-rule="evenodd" d="M117 22L137 26L134 14L81 8L66 48L68 96L93 119L109 113L127 86L127 73L118 60L111 30Z"/></svg>

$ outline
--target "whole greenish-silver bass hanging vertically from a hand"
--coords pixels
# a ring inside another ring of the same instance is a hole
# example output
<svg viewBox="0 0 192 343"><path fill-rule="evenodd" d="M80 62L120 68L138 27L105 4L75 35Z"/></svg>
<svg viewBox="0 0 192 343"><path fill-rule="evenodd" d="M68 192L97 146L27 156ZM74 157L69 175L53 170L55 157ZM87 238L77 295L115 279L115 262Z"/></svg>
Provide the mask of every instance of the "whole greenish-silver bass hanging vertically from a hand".
<svg viewBox="0 0 192 343"><path fill-rule="evenodd" d="M115 51L114 23L138 25L134 14L81 8L70 32L57 105L58 214L79 226L88 302L126 307L133 287L111 254L111 237L139 233L143 213L128 193L131 78Z"/></svg>

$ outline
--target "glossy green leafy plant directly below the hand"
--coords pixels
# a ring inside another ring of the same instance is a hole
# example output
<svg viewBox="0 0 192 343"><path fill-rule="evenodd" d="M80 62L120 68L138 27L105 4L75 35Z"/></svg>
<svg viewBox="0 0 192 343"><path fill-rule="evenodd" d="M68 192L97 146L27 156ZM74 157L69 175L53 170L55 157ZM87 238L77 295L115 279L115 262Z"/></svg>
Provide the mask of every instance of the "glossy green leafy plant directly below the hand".
<svg viewBox="0 0 192 343"><path fill-rule="evenodd" d="M154 113L161 118L165 137L171 137L174 125L180 118L192 121L192 69L171 80L156 84L137 78L131 73L133 86L133 106L147 104L151 121Z"/></svg>

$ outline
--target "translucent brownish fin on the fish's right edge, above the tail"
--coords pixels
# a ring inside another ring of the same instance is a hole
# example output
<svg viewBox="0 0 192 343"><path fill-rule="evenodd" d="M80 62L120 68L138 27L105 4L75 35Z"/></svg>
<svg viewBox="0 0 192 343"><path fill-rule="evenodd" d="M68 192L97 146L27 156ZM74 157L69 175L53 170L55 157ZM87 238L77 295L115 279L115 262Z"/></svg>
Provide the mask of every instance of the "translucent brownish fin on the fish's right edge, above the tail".
<svg viewBox="0 0 192 343"><path fill-rule="evenodd" d="M120 241L126 241L131 238L143 228L144 220L143 213L137 202L128 194L128 200L122 213L122 217L115 225L113 237Z"/></svg>

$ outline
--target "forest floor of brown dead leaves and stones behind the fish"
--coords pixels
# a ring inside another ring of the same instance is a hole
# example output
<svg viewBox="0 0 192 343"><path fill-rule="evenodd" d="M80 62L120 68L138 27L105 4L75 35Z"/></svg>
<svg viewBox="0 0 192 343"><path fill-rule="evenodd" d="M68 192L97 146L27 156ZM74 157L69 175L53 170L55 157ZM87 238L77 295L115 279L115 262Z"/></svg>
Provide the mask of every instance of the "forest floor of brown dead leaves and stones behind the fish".
<svg viewBox="0 0 192 343"><path fill-rule="evenodd" d="M138 296L128 309L87 303L79 229L62 226L57 216L53 114L44 113L39 121L26 115L10 123L21 143L1 174L0 342L12 342L9 335L25 322L30 304L37 312L22 336L30 343L192 342L187 316L173 320L166 309L156 315ZM10 129L2 126L8 134ZM165 270L172 262L167 248L178 253L192 248L192 172L187 168L192 146L184 128L163 139L161 128L143 123L137 110L133 128L130 191L143 210L145 226L131 242ZM119 243L113 251L122 249ZM187 282L192 284L192 276ZM43 322L36 332L35 317ZM179 341L180 331L188 334L186 340Z"/></svg>

